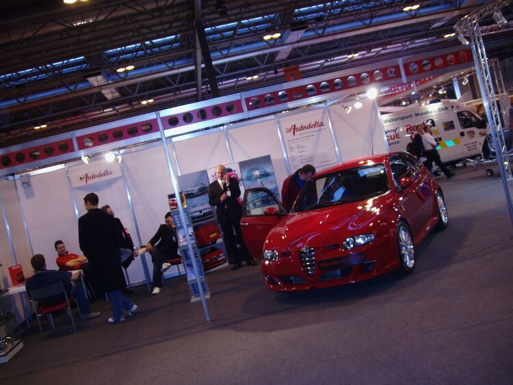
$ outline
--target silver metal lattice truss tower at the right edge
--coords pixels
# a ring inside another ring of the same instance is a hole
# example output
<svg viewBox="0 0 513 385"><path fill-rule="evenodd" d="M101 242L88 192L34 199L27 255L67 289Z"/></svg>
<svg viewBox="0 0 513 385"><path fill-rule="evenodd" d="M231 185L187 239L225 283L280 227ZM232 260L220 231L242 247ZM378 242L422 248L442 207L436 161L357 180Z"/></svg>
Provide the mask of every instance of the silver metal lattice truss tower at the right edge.
<svg viewBox="0 0 513 385"><path fill-rule="evenodd" d="M482 20L486 16L499 12L504 5L507 5L510 1L497 0L493 3L486 5L484 8L472 12L464 16L456 25L454 29L458 32L458 39L462 43L471 44L472 53L474 55L475 71L477 75L477 81L479 81L479 88L483 96L483 104L486 109L486 116L488 118L488 124L490 124L490 133L492 134L493 145L495 147L495 154L497 155L497 163L499 165L499 171L501 172L501 179L504 187L504 193L506 202L508 203L508 211L510 212L510 220L513 224L513 205L511 202L510 190L508 188L508 181L513 180L510 162L508 161L508 149L505 145L504 140L504 127L501 122L501 116L499 113L499 107L497 106L497 99L495 97L495 90L493 87L492 73L488 66L488 59L486 57L486 51L484 49L484 42L481 35L481 29L479 27L479 20ZM469 38L467 41L465 37ZM495 80L499 92L504 91L504 85L502 77L500 75L500 68L497 60L492 62L492 68L495 72ZM499 94L500 95L500 94ZM503 114L509 114L510 103L507 101L505 105L501 96L501 107ZM504 120L504 122L509 121Z"/></svg>

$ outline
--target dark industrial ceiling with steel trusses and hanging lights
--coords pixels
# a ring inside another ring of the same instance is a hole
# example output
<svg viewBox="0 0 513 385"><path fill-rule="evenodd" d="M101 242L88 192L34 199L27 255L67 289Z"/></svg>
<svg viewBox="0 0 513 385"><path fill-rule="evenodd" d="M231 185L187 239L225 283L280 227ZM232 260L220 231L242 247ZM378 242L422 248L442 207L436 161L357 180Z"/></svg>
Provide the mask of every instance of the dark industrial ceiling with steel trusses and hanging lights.
<svg viewBox="0 0 513 385"><path fill-rule="evenodd" d="M284 83L293 66L305 79L457 47L455 23L489 3L3 0L0 147ZM488 57L512 56L510 23L480 23Z"/></svg>

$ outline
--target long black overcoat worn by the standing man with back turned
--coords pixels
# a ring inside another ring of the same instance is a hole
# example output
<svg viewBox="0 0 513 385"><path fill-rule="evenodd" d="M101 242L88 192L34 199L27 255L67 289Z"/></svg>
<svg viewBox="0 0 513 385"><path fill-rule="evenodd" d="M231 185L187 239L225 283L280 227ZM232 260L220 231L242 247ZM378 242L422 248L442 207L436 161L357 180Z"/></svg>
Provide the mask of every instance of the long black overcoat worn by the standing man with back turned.
<svg viewBox="0 0 513 385"><path fill-rule="evenodd" d="M90 209L79 217L79 245L88 258L98 289L108 293L124 288L120 237L112 215L101 209Z"/></svg>

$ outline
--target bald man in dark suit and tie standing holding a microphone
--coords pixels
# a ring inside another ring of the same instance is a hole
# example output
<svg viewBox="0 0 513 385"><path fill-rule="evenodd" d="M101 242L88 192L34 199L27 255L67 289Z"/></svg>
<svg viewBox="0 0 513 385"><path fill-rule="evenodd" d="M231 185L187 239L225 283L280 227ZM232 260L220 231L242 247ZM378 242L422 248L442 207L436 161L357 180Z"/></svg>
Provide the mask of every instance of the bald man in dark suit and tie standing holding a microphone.
<svg viewBox="0 0 513 385"><path fill-rule="evenodd" d="M235 178L228 178L226 168L222 164L215 168L215 175L218 180L209 185L209 204L215 206L228 260L233 264L232 270L241 267L242 260L254 266L256 263L242 239L240 225L242 207L237 200L241 196L239 182ZM240 248L237 248L237 244Z"/></svg>

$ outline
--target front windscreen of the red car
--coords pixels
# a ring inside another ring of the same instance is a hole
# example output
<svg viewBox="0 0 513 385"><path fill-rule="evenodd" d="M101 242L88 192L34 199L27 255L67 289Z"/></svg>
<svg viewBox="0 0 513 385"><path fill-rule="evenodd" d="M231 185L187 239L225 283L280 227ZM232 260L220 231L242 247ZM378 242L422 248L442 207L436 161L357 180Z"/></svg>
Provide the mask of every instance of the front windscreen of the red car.
<svg viewBox="0 0 513 385"><path fill-rule="evenodd" d="M308 181L293 211L356 202L384 194L389 188L389 179L382 163L340 170Z"/></svg>

